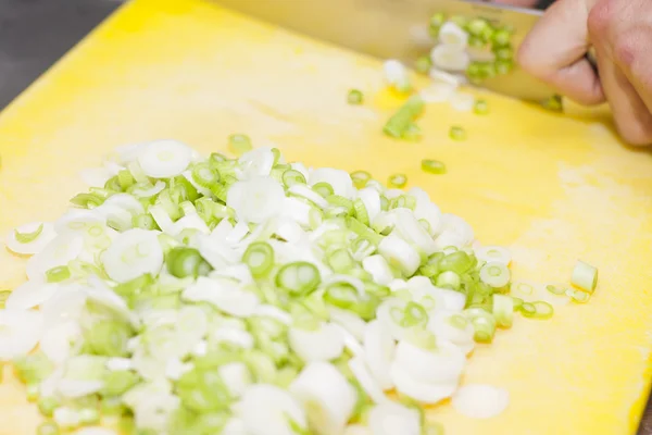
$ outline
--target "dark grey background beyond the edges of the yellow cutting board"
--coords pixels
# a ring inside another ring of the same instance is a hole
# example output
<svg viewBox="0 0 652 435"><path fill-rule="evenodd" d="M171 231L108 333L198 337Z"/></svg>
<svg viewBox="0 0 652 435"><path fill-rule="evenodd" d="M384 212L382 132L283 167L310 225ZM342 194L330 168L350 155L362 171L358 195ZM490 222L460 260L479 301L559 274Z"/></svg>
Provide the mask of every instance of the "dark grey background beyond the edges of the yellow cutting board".
<svg viewBox="0 0 652 435"><path fill-rule="evenodd" d="M541 0L540 5L553 1ZM122 0L0 0L0 110L121 3ZM650 402L639 435L652 435Z"/></svg>

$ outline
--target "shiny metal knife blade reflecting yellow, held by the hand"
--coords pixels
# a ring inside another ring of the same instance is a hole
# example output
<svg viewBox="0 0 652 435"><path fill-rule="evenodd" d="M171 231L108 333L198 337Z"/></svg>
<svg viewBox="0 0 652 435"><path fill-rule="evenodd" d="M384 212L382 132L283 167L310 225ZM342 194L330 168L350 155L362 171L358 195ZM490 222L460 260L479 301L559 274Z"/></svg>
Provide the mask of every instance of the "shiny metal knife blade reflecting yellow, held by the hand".
<svg viewBox="0 0 652 435"><path fill-rule="evenodd" d="M516 50L542 12L475 0L216 0L218 3L273 24L380 59L409 64L435 45L429 17L484 17L514 28ZM554 91L519 69L482 83L511 97L544 101Z"/></svg>

